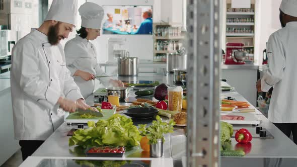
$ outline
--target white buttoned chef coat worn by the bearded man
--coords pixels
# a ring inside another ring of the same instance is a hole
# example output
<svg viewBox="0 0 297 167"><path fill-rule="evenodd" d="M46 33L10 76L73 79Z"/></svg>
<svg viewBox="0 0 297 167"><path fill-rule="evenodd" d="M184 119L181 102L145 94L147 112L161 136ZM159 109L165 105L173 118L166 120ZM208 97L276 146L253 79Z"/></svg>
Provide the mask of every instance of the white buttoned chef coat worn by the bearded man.
<svg viewBox="0 0 297 167"><path fill-rule="evenodd" d="M46 140L64 120L59 97L83 98L65 65L61 44L36 29L12 51L11 92L15 138Z"/></svg>

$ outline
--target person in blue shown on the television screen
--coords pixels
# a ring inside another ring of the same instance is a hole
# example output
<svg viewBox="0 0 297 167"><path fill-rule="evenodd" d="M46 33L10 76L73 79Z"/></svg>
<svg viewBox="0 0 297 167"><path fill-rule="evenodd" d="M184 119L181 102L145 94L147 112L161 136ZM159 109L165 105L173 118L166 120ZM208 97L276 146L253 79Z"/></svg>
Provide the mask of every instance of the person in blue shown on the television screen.
<svg viewBox="0 0 297 167"><path fill-rule="evenodd" d="M153 33L153 11L152 9L144 9L142 18L144 21L140 24L138 30L131 34L152 34Z"/></svg>

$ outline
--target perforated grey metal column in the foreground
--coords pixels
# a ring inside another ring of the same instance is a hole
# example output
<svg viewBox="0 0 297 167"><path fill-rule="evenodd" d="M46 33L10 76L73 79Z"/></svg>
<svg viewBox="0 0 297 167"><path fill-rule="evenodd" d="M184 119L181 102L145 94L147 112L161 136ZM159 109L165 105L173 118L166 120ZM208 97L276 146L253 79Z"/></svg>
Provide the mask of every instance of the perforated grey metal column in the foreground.
<svg viewBox="0 0 297 167"><path fill-rule="evenodd" d="M219 0L187 0L187 166L219 165Z"/></svg>

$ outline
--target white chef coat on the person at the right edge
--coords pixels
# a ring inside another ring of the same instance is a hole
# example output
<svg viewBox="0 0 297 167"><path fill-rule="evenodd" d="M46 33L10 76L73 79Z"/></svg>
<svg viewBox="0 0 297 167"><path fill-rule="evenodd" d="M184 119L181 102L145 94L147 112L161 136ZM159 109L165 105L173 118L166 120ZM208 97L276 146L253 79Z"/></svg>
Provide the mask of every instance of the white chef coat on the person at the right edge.
<svg viewBox="0 0 297 167"><path fill-rule="evenodd" d="M297 123L297 22L289 22L268 40L268 70L261 89L273 87L268 119L273 123Z"/></svg>

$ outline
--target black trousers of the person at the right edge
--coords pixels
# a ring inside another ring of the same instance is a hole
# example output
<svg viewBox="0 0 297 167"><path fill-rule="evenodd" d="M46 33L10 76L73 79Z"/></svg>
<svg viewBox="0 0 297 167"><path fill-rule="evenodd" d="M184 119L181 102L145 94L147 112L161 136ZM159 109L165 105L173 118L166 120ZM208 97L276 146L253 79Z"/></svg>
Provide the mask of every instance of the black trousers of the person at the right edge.
<svg viewBox="0 0 297 167"><path fill-rule="evenodd" d="M297 123L273 123L286 136L293 135L293 141L297 144Z"/></svg>

